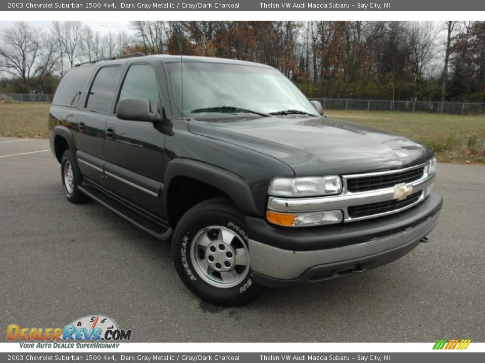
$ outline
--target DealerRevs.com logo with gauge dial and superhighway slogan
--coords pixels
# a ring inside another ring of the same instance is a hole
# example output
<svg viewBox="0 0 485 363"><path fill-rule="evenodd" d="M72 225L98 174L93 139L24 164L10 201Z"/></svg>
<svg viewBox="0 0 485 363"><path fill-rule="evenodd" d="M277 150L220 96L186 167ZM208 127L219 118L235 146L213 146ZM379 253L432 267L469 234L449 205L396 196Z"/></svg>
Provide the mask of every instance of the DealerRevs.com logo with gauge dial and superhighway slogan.
<svg viewBox="0 0 485 363"><path fill-rule="evenodd" d="M74 343L88 341L97 344L76 343L76 347L118 347L118 341L129 341L131 330L123 330L111 318L103 315L88 315L74 320L63 328L21 328L17 324L7 327L7 339L19 339L22 347L73 348ZM106 343L99 343L100 341ZM67 343L66 343L67 342ZM109 342L109 343L108 343Z"/></svg>

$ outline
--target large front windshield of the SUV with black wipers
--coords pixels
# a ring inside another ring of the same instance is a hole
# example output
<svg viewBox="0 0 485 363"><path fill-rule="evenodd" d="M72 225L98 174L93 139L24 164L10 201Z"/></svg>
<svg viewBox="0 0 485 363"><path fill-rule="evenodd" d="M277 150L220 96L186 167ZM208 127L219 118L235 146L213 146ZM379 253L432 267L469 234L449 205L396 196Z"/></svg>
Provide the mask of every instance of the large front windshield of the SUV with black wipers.
<svg viewBox="0 0 485 363"><path fill-rule="evenodd" d="M317 115L303 93L271 68L198 62L175 62L166 66L175 102L184 116L268 115L285 110Z"/></svg>

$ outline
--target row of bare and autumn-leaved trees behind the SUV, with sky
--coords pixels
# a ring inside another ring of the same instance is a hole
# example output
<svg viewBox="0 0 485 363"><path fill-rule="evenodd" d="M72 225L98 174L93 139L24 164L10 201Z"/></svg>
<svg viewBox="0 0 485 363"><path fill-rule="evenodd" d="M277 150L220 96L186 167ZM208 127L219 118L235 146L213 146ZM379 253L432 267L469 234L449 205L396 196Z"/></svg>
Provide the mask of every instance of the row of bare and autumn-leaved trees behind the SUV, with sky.
<svg viewBox="0 0 485 363"><path fill-rule="evenodd" d="M483 21L17 22L0 35L0 91L53 93L75 64L134 52L268 64L309 97L485 102Z"/></svg>

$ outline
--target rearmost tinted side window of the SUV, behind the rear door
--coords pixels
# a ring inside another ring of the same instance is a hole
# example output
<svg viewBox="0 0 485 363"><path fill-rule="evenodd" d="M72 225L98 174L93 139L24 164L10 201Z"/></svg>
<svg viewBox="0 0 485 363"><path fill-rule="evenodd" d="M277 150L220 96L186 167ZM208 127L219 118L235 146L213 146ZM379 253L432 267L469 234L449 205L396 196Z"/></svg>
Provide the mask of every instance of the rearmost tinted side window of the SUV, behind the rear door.
<svg viewBox="0 0 485 363"><path fill-rule="evenodd" d="M79 67L67 71L57 87L52 104L76 107L91 72L92 67Z"/></svg>

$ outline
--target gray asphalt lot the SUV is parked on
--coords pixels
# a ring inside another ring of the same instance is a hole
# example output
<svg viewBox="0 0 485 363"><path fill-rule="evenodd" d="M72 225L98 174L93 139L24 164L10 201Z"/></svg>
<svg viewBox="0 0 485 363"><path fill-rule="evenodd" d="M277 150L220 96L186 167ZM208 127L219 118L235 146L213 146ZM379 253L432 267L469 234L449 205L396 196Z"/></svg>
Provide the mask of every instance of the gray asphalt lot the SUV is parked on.
<svg viewBox="0 0 485 363"><path fill-rule="evenodd" d="M483 342L485 166L439 164L434 190L441 220L404 258L221 308L185 288L169 244L69 203L47 140L0 138L0 340L103 314L137 342Z"/></svg>

